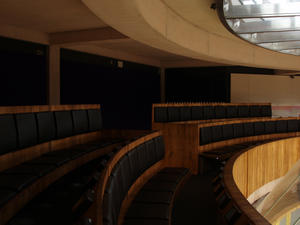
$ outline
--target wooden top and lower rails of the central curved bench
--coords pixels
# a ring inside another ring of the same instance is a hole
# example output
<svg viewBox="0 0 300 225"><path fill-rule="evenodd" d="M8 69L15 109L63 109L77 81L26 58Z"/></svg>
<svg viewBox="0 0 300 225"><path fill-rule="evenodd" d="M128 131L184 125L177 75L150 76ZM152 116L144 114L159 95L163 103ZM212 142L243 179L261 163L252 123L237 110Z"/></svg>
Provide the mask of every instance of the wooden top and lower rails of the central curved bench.
<svg viewBox="0 0 300 225"><path fill-rule="evenodd" d="M116 155L114 155L110 161L107 163L107 166L105 167L104 171L102 172L101 178L98 182L97 186L97 207L96 211L94 212L94 215L97 215L96 223L97 225L103 224L103 200L104 200L104 192L105 188L108 182L108 178L114 168L114 166L118 163L118 161L126 155L129 151L134 149L135 147L155 138L158 136L161 136L162 133L160 131L153 132L151 134L148 134L146 136L143 136L132 143L124 146L122 149L120 149ZM164 160L160 160L156 162L154 165L152 165L150 168L148 168L140 177L137 178L137 180L131 185L125 199L122 202L118 224L121 225L124 219L124 216L127 212L128 207L130 206L130 203L135 198L136 194L139 192L139 190L144 186L144 184L159 170L161 170L164 167L165 163Z"/></svg>

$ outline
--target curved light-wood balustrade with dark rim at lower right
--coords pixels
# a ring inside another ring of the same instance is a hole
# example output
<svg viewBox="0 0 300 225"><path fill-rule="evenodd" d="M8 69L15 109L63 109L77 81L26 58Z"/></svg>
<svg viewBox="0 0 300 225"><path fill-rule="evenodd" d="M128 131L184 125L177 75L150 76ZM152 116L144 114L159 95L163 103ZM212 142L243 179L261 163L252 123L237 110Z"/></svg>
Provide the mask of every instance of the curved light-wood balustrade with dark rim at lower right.
<svg viewBox="0 0 300 225"><path fill-rule="evenodd" d="M284 176L300 159L300 137L282 139L237 153L224 169L225 189L255 225L270 225L247 201L251 193Z"/></svg>

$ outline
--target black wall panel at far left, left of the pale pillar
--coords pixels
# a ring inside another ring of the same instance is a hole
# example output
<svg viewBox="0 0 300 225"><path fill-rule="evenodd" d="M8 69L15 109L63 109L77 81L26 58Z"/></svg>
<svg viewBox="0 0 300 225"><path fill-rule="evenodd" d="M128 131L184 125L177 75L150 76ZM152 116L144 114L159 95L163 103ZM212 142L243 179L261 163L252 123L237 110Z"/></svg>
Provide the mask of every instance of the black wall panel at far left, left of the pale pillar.
<svg viewBox="0 0 300 225"><path fill-rule="evenodd" d="M0 37L0 105L47 104L47 46Z"/></svg>

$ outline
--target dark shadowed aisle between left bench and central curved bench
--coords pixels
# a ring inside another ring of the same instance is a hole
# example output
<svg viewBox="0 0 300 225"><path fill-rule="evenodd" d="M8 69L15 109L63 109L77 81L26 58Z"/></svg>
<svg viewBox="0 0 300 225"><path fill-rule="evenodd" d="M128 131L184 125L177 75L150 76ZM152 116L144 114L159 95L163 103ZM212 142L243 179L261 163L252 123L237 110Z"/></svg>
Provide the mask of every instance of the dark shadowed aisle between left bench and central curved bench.
<svg viewBox="0 0 300 225"><path fill-rule="evenodd" d="M77 168L30 201L8 225L93 224L85 212L95 203L101 172L116 149Z"/></svg>

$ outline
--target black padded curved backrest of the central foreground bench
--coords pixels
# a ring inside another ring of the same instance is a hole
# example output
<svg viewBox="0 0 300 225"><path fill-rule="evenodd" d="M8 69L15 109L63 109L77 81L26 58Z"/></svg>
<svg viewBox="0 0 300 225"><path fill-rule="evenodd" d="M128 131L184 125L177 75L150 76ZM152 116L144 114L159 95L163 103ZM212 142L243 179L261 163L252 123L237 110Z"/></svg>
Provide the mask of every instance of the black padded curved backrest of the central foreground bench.
<svg viewBox="0 0 300 225"><path fill-rule="evenodd" d="M122 201L131 185L165 155L162 136L154 137L123 155L108 177L103 196L103 224L117 225Z"/></svg>

